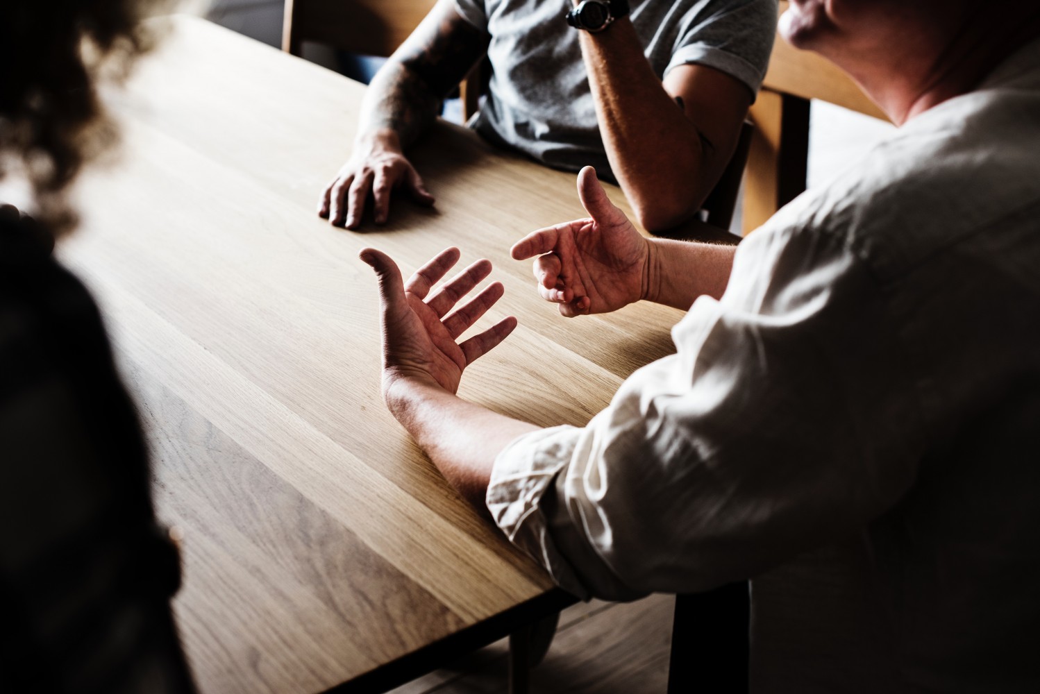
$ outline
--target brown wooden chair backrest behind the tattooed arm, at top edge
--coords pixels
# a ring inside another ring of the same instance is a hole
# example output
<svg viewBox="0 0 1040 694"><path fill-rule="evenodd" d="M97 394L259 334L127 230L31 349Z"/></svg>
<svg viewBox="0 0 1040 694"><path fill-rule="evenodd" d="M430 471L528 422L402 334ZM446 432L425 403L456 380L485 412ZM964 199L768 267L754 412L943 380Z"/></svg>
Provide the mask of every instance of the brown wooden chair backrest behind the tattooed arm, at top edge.
<svg viewBox="0 0 1040 694"><path fill-rule="evenodd" d="M387 57L419 26L436 0L286 0L282 49L303 43Z"/></svg>

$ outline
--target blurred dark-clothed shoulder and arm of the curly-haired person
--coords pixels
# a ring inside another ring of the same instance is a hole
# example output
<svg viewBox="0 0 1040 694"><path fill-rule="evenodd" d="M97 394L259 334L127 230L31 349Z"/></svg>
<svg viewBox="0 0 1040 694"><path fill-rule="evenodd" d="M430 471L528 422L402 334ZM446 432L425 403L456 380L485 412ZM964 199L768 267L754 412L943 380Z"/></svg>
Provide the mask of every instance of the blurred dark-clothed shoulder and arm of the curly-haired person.
<svg viewBox="0 0 1040 694"><path fill-rule="evenodd" d="M0 691L192 691L177 549L97 305L0 210Z"/></svg>

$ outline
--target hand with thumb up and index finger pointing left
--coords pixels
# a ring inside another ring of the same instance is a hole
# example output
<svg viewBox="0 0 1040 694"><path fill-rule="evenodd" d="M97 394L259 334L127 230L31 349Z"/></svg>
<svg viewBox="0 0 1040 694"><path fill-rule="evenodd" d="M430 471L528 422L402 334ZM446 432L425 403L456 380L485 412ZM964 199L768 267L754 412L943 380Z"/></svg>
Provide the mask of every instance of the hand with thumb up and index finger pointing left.
<svg viewBox="0 0 1040 694"><path fill-rule="evenodd" d="M539 293L568 317L617 311L646 292L647 240L591 166L578 174L578 195L591 217L540 229L512 249L516 260L537 257Z"/></svg>

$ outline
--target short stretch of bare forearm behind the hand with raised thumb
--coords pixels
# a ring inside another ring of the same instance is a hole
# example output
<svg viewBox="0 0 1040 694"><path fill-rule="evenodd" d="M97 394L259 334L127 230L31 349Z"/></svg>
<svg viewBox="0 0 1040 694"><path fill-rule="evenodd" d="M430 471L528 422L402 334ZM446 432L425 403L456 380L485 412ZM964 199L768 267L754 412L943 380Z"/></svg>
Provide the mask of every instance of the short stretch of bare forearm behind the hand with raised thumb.
<svg viewBox="0 0 1040 694"><path fill-rule="evenodd" d="M701 295L726 291L736 246L650 239L646 298L687 310Z"/></svg>

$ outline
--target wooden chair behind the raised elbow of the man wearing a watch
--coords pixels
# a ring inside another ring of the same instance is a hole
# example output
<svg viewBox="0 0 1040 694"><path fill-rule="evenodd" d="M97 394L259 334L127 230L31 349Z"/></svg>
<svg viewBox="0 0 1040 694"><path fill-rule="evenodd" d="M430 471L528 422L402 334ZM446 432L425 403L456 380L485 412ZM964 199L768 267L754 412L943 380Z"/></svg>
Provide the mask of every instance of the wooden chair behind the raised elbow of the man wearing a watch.
<svg viewBox="0 0 1040 694"><path fill-rule="evenodd" d="M781 12L786 8L787 3L780 2ZM755 135L745 178L745 234L805 190L810 99L887 119L841 70L815 53L791 48L777 35L762 90L751 107Z"/></svg>

